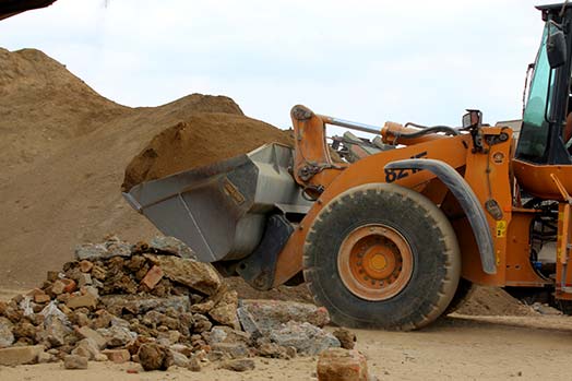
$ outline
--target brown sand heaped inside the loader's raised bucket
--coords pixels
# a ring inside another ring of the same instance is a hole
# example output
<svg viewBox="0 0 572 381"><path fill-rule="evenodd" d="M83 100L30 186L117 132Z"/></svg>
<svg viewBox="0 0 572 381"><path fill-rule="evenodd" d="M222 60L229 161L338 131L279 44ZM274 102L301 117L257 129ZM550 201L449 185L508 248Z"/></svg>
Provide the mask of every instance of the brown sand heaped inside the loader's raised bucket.
<svg viewBox="0 0 572 381"><path fill-rule="evenodd" d="M153 138L127 167L122 190L272 142L293 145L288 131L260 120L222 112L196 114Z"/></svg>

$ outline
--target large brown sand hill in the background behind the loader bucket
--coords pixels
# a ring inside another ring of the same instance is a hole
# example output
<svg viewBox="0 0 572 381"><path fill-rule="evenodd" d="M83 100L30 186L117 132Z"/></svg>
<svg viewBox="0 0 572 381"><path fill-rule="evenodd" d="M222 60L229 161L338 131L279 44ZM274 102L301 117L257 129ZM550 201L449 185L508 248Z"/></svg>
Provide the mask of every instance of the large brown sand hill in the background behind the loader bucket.
<svg viewBox="0 0 572 381"><path fill-rule="evenodd" d="M34 49L0 49L0 285L10 288L40 282L44 269L71 260L76 242L154 236L121 197L128 164L157 133L198 114L242 116L233 99L201 94L124 107Z"/></svg>

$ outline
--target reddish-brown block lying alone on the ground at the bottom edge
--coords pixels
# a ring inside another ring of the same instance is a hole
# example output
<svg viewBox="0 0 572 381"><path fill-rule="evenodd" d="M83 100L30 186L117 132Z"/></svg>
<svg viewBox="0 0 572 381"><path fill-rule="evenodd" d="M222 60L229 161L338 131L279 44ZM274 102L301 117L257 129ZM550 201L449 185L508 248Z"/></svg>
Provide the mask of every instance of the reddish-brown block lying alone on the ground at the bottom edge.
<svg viewBox="0 0 572 381"><path fill-rule="evenodd" d="M366 356L353 349L330 348L318 358L319 381L368 381Z"/></svg>

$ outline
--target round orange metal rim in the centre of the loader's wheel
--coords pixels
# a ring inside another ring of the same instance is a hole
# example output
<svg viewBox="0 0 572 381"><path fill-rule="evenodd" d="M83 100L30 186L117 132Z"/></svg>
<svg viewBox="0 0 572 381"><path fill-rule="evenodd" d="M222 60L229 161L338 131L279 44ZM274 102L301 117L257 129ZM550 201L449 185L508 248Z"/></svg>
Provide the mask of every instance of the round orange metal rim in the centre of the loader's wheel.
<svg viewBox="0 0 572 381"><path fill-rule="evenodd" d="M400 294L412 278L413 253L395 229L365 225L342 242L337 270L351 294L366 300L385 300Z"/></svg>

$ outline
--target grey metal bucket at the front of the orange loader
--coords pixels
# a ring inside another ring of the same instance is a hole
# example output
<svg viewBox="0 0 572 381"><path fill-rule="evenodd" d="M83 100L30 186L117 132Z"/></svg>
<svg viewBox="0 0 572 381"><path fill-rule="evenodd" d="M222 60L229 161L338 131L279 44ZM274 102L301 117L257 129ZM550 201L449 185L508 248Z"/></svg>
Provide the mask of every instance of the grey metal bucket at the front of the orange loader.
<svg viewBox="0 0 572 381"><path fill-rule="evenodd" d="M306 214L288 167L293 150L266 144L206 167L140 183L123 192L163 234L187 243L202 262L238 260L259 245L272 212Z"/></svg>

